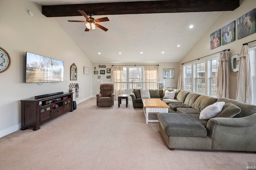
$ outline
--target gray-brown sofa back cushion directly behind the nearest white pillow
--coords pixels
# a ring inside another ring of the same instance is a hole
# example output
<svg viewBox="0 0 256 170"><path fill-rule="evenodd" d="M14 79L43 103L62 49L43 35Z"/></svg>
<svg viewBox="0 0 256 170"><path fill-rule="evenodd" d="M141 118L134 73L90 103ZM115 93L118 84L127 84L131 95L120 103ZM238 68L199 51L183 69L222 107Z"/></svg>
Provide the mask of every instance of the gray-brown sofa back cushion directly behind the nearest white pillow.
<svg viewBox="0 0 256 170"><path fill-rule="evenodd" d="M241 108L232 104L232 103L226 103L223 106L222 111L215 117L234 117L238 113L241 112Z"/></svg>

